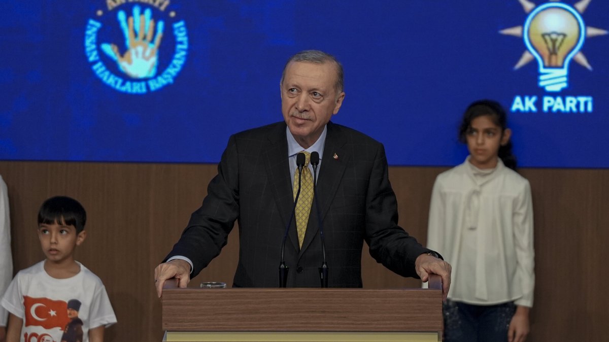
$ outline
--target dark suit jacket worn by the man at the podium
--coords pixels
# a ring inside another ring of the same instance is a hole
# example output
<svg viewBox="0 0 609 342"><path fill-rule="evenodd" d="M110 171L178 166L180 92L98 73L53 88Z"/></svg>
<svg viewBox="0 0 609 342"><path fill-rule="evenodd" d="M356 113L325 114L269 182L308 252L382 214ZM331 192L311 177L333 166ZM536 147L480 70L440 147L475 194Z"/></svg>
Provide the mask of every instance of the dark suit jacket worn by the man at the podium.
<svg viewBox="0 0 609 342"><path fill-rule="evenodd" d="M329 122L317 190L329 287L362 287L364 240L371 256L385 267L417 277L415 259L428 250L397 225L396 198L381 143ZM240 245L234 286L278 287L281 242L294 204L292 196L286 124L234 134L201 208L192 214L165 260L188 257L196 276L226 245L237 220ZM315 205L314 201L301 249L294 220L289 228L288 287L320 286L322 250Z"/></svg>

